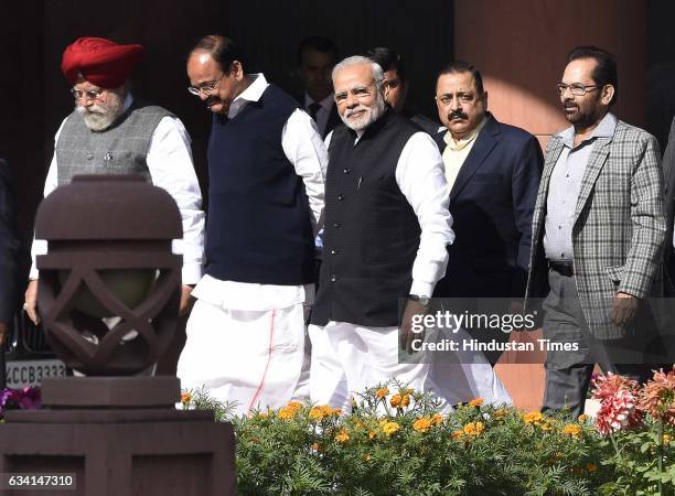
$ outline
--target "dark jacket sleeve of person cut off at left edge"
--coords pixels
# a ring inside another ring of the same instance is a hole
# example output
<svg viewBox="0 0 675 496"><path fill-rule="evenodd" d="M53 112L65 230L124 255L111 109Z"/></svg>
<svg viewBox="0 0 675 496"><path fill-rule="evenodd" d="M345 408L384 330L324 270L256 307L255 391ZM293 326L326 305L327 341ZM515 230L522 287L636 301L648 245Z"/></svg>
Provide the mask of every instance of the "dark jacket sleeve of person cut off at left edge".
<svg viewBox="0 0 675 496"><path fill-rule="evenodd" d="M0 322L9 323L15 303L19 241L14 229L14 194L9 165L0 159Z"/></svg>

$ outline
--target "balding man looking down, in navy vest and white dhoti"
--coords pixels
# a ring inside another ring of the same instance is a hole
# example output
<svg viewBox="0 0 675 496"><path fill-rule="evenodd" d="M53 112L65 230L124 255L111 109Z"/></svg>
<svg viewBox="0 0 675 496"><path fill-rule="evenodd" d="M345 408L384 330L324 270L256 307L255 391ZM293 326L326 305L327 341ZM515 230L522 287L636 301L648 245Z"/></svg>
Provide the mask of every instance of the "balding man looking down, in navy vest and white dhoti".
<svg viewBox="0 0 675 496"><path fill-rule="evenodd" d="M179 362L184 387L279 408L307 392L303 304L314 298L314 236L325 148L311 118L239 48L208 35L188 60L189 90L213 112L205 276Z"/></svg>

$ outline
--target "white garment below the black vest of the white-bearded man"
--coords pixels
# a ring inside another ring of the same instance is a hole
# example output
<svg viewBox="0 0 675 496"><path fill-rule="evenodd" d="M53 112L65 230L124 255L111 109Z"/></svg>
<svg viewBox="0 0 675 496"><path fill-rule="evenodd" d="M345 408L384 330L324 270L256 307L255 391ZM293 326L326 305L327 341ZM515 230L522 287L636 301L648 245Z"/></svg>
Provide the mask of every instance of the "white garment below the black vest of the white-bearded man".
<svg viewBox="0 0 675 496"><path fill-rule="evenodd" d="M344 322L309 326L312 342L310 397L318 405L351 410L366 388L398 380L424 390L429 364L413 355L399 363L398 327L364 327Z"/></svg>

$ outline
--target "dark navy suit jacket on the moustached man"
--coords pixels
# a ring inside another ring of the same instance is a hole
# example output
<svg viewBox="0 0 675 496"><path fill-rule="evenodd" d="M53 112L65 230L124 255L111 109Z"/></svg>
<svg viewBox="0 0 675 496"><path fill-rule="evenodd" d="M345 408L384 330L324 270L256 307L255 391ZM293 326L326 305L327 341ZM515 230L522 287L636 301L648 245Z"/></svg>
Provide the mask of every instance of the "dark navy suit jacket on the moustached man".
<svg viewBox="0 0 675 496"><path fill-rule="evenodd" d="M437 296L525 295L542 148L523 129L486 118L450 192L456 240ZM435 137L441 153L444 133Z"/></svg>

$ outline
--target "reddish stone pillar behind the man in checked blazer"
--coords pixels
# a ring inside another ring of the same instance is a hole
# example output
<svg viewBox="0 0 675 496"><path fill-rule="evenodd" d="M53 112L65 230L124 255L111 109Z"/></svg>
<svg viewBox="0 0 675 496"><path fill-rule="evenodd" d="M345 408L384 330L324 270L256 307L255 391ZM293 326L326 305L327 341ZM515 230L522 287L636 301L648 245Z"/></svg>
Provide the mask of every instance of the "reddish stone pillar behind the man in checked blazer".
<svg viewBox="0 0 675 496"><path fill-rule="evenodd" d="M567 53L593 44L617 56L619 100L613 111L645 126L647 2L458 0L454 6L456 57L479 67L497 120L526 129L545 147L568 126L556 91ZM497 373L518 407L540 407L540 364L502 363Z"/></svg>

